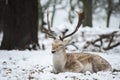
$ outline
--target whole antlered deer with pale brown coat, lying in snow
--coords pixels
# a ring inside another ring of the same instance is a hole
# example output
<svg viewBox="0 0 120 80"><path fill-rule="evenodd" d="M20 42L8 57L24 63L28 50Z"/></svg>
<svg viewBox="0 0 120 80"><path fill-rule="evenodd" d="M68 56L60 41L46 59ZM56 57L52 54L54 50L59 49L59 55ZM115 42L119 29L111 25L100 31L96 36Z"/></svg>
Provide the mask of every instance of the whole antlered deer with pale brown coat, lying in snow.
<svg viewBox="0 0 120 80"><path fill-rule="evenodd" d="M77 14L78 23L75 30L68 35L62 35L57 38L50 29L50 22L48 20L49 12L47 12L48 30L45 29L45 33L54 39L51 50L53 54L53 70L51 72L57 74L60 72L85 73L86 71L90 71L94 73L98 71L111 71L112 67L110 63L97 54L66 52L68 43L65 41L65 38L75 34L85 18L84 12L77 12Z"/></svg>

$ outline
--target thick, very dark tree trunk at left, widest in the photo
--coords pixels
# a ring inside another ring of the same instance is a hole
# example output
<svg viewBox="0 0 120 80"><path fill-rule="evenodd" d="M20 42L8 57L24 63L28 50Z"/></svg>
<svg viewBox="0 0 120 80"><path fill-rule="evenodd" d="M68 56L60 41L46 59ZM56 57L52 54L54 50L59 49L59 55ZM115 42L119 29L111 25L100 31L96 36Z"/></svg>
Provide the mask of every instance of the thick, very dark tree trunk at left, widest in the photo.
<svg viewBox="0 0 120 80"><path fill-rule="evenodd" d="M5 25L0 48L36 49L39 46L38 1L8 0L4 11Z"/></svg>

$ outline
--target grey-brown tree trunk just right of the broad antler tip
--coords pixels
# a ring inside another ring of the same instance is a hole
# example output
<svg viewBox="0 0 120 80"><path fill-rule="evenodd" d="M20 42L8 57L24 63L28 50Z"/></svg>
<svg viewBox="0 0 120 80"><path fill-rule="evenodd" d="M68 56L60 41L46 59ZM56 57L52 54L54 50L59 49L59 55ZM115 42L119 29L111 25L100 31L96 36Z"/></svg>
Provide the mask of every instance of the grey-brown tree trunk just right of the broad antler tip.
<svg viewBox="0 0 120 80"><path fill-rule="evenodd" d="M92 27L92 0L82 0L83 2L83 11L85 13L85 20L83 26Z"/></svg>

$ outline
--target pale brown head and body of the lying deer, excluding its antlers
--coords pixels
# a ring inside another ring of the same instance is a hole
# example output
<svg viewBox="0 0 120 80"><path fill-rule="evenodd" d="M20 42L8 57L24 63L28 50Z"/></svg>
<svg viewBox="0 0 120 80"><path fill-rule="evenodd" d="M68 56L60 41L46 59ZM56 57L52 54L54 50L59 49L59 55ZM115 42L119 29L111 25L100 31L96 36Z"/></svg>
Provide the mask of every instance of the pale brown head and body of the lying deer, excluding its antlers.
<svg viewBox="0 0 120 80"><path fill-rule="evenodd" d="M102 57L89 53L66 53L65 44L57 39L52 44L54 73L97 72L112 70Z"/></svg>

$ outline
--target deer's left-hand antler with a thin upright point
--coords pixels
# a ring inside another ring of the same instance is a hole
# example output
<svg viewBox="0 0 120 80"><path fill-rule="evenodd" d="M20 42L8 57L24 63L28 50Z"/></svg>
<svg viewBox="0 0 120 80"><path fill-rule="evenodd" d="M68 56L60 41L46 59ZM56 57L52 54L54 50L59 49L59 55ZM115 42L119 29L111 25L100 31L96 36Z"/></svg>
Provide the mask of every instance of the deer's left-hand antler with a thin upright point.
<svg viewBox="0 0 120 80"><path fill-rule="evenodd" d="M53 31L51 30L50 22L49 22L49 10L47 10L47 24L48 24L48 30L44 28L44 32L50 36L50 38L56 39L55 35L53 34Z"/></svg>

